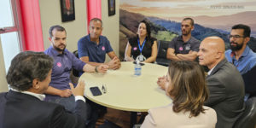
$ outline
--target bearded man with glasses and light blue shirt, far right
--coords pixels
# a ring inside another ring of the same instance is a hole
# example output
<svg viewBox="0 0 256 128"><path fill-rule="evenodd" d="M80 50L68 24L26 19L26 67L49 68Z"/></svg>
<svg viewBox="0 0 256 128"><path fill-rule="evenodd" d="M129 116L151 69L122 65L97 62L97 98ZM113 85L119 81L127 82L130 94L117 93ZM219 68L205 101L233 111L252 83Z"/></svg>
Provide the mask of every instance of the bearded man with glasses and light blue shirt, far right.
<svg viewBox="0 0 256 128"><path fill-rule="evenodd" d="M230 32L230 49L225 52L226 58L239 70L247 73L256 65L256 54L247 46L251 29L246 25L232 26Z"/></svg>

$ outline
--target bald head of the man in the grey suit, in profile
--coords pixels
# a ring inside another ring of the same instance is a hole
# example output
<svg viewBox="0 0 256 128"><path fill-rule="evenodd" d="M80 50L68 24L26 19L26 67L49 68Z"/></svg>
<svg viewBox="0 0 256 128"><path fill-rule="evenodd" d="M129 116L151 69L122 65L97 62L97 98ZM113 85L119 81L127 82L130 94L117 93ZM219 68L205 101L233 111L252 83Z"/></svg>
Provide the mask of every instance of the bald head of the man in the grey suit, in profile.
<svg viewBox="0 0 256 128"><path fill-rule="evenodd" d="M199 63L207 66L209 69L215 67L219 61L224 59L225 44L224 40L219 37L205 38L199 48Z"/></svg>

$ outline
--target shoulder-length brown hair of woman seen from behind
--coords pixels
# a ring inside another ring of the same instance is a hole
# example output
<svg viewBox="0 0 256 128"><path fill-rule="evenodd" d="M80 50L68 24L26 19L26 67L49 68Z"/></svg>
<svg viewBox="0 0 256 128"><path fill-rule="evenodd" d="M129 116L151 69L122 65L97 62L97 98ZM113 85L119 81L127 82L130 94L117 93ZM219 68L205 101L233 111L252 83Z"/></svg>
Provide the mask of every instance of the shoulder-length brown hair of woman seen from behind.
<svg viewBox="0 0 256 128"><path fill-rule="evenodd" d="M189 117L204 113L204 102L208 98L205 73L195 61L172 61L168 74L171 85L166 88L172 96L172 110L190 112Z"/></svg>

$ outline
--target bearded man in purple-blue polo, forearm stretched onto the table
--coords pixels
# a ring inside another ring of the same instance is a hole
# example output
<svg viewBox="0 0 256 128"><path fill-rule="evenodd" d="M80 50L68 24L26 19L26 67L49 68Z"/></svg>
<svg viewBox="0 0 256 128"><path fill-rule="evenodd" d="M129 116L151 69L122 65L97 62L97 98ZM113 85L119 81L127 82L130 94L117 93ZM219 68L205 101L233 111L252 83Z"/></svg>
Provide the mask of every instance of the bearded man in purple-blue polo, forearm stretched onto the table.
<svg viewBox="0 0 256 128"><path fill-rule="evenodd" d="M72 68L84 72L106 73L107 65L97 67L80 61L73 53L66 49L67 32L62 26L51 26L49 28L49 42L51 46L44 53L54 59L49 88L45 91L45 101L55 102L63 105L67 110L73 112L75 98L70 90L70 72ZM42 67L44 68L44 67Z"/></svg>

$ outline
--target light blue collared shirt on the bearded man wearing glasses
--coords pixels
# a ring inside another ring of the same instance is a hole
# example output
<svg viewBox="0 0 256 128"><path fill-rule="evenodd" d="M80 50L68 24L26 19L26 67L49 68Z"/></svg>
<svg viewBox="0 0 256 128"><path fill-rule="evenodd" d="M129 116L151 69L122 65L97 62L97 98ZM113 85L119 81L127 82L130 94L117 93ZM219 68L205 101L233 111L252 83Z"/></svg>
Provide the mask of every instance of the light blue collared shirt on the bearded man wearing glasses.
<svg viewBox="0 0 256 128"><path fill-rule="evenodd" d="M225 51L225 56L230 63L236 66L241 75L247 73L256 65L256 53L248 46L246 46L238 60L236 60L235 52L232 52L231 49Z"/></svg>

